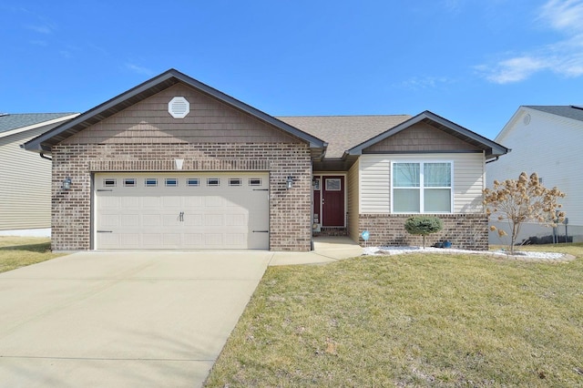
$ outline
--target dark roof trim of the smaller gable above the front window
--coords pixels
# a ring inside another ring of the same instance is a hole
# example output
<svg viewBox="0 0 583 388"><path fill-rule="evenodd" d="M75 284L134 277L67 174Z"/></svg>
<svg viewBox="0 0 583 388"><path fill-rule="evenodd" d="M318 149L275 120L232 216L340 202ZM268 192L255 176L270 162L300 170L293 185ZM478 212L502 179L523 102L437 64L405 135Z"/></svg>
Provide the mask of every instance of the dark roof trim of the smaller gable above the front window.
<svg viewBox="0 0 583 388"><path fill-rule="evenodd" d="M387 138L394 137L395 135L403 132L405 129L413 128L420 123L442 130L448 135L451 135L471 145L473 148L484 150L486 153L486 159L497 158L508 152L507 148L497 144L496 142L484 138L483 136L478 135L476 132L473 132L469 129L458 126L454 122L449 121L444 117L437 116L435 113L425 110L423 113L404 121L394 128L390 128L384 131L384 133L381 133L373 138L369 138L358 146L348 149L344 155L344 158L362 155L363 150L367 148L373 148L373 146L379 142ZM428 150L424 149L424 151Z"/></svg>

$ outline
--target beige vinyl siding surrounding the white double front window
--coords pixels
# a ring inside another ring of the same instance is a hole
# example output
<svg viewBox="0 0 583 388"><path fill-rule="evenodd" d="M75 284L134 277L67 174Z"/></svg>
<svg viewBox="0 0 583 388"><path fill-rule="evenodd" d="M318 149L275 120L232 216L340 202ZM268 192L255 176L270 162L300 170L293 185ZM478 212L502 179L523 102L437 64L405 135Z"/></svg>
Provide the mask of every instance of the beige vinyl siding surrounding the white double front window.
<svg viewBox="0 0 583 388"><path fill-rule="evenodd" d="M485 161L482 153L438 153L404 155L363 155L361 158L361 213L391 212L391 161L445 160L453 162L454 213L481 213L485 188Z"/></svg>

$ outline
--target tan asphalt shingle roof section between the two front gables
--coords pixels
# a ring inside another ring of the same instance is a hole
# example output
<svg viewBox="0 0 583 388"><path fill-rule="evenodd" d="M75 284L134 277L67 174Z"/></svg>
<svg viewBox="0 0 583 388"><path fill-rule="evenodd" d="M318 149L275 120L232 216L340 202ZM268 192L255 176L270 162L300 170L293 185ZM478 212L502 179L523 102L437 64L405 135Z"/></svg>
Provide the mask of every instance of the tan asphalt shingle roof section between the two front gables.
<svg viewBox="0 0 583 388"><path fill-rule="evenodd" d="M345 150L394 128L411 116L292 116L276 118L328 142L326 158L342 158Z"/></svg>

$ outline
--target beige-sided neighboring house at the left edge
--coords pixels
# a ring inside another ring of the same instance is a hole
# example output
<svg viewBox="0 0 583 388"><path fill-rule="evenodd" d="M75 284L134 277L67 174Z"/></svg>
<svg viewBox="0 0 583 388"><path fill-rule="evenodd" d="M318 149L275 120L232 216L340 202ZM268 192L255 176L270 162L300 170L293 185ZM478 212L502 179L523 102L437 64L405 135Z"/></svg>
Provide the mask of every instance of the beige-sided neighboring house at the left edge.
<svg viewBox="0 0 583 388"><path fill-rule="evenodd" d="M0 114L0 235L49 235L51 162L20 145L76 116Z"/></svg>

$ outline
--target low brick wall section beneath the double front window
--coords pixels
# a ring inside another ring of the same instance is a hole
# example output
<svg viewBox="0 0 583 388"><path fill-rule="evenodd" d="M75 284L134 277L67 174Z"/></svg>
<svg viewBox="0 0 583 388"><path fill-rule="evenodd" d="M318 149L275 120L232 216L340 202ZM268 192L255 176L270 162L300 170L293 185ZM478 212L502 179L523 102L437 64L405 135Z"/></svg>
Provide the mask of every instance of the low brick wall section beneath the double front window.
<svg viewBox="0 0 583 388"><path fill-rule="evenodd" d="M368 246L421 246L422 236L404 230L404 221L413 214L361 214L359 230L368 230ZM452 248L463 250L488 250L488 220L486 214L440 214L444 229L425 237L425 246L450 240ZM364 241L359 241L364 245Z"/></svg>

